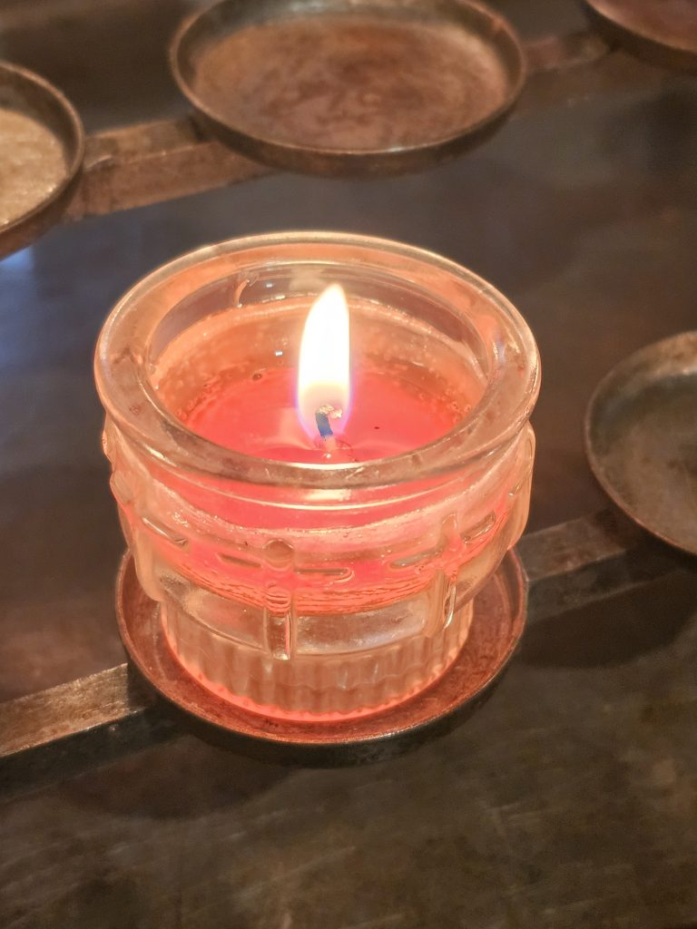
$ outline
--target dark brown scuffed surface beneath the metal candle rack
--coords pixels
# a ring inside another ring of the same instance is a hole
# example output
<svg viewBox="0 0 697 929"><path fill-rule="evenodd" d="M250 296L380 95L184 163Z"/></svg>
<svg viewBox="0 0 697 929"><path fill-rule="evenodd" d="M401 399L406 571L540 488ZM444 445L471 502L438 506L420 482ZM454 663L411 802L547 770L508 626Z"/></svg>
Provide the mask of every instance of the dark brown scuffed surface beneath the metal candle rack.
<svg viewBox="0 0 697 929"><path fill-rule="evenodd" d="M529 37L583 25L572 0L496 6ZM183 113L163 59L183 4L80 7L0 2L3 54L63 86L90 129ZM532 528L605 505L586 399L697 320L696 90L613 55L533 85L496 137L427 174L266 177L63 226L0 263L0 696L123 660L91 351L126 287L204 242L349 229L488 277L543 357ZM696 603L686 573L550 616L466 726L383 765L293 770L187 737L8 803L0 925L687 929Z"/></svg>

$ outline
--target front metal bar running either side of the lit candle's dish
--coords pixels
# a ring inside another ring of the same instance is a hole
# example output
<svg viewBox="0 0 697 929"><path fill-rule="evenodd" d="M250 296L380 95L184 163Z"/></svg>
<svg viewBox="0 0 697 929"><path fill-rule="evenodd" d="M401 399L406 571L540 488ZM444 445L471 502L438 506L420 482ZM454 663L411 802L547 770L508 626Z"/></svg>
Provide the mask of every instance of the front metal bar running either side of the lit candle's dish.
<svg viewBox="0 0 697 929"><path fill-rule="evenodd" d="M530 622L697 564L614 511L533 532L518 551ZM125 664L9 700L0 704L0 791L70 777L183 731Z"/></svg>

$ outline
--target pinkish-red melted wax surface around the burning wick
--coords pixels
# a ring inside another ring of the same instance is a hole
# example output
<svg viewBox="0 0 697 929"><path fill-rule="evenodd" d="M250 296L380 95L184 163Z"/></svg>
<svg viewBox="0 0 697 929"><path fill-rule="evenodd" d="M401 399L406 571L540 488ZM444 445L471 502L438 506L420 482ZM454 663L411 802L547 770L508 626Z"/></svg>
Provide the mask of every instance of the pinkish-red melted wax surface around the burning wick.
<svg viewBox="0 0 697 929"><path fill-rule="evenodd" d="M283 367L244 380L221 377L180 416L193 432L236 451L277 461L339 464L426 445L467 412L389 372L358 372L349 413L332 424L338 448L328 448L319 433L310 437L298 420L296 376L295 368Z"/></svg>

